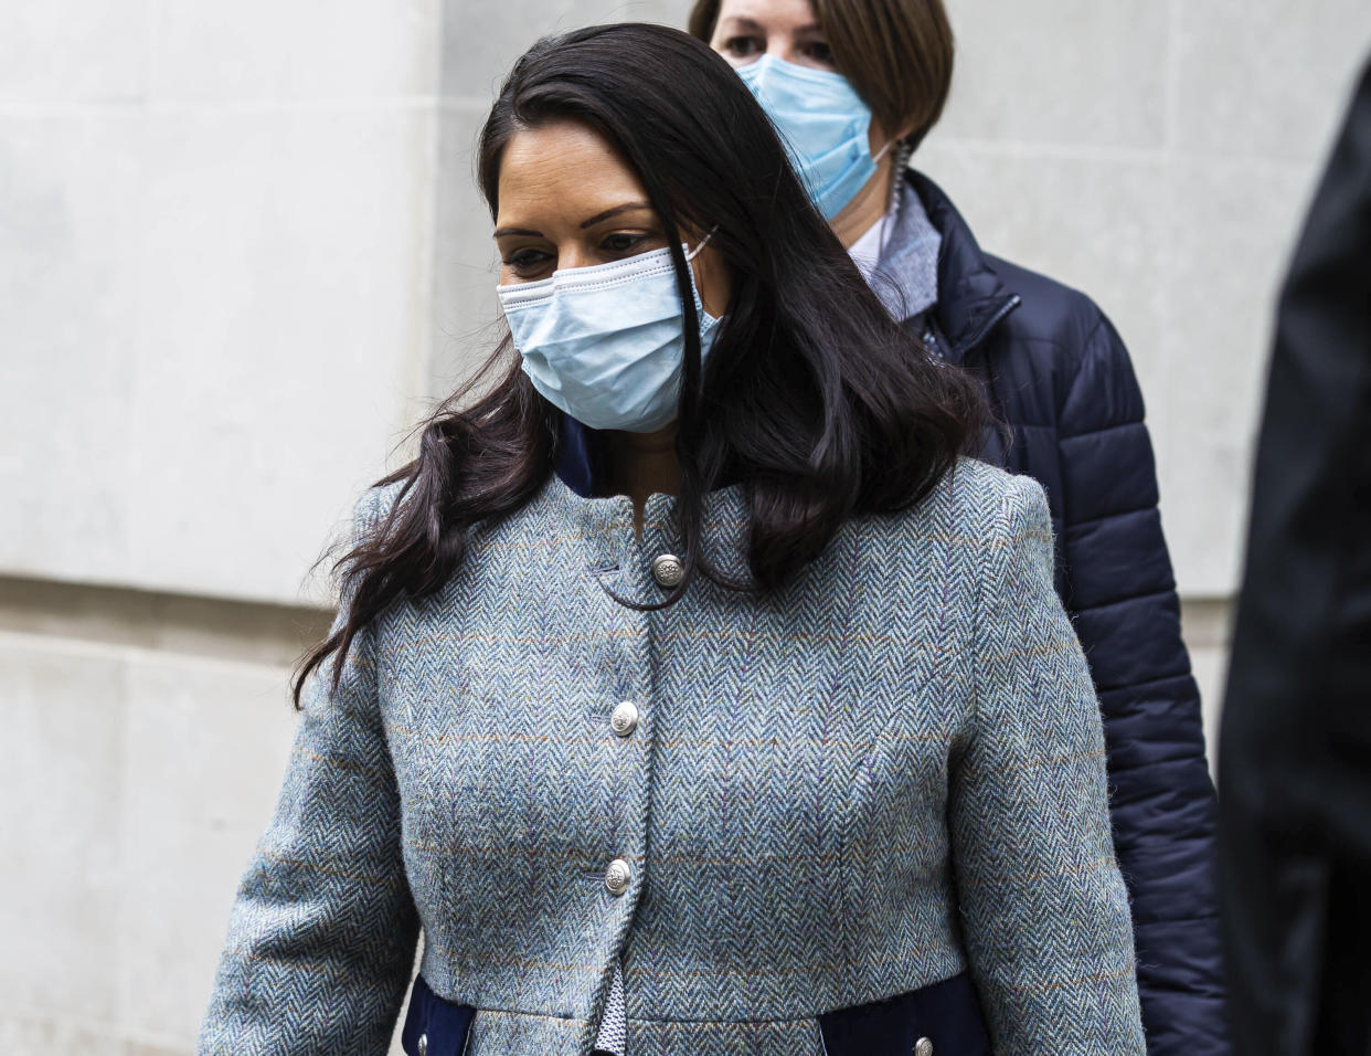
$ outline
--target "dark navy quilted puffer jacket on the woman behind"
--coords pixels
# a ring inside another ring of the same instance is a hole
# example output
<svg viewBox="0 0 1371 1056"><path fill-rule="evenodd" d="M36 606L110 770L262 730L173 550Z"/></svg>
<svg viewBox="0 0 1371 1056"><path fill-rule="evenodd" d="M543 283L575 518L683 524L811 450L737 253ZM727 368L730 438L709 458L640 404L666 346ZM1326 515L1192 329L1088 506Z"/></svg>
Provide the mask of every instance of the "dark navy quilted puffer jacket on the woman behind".
<svg viewBox="0 0 1371 1056"><path fill-rule="evenodd" d="M983 457L1047 492L1057 588L1104 712L1148 1051L1227 1053L1215 793L1132 363L1087 296L982 252L946 195L909 178L942 235L938 303L912 324L986 385L1005 428Z"/></svg>

